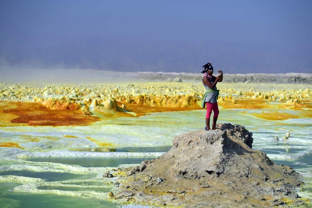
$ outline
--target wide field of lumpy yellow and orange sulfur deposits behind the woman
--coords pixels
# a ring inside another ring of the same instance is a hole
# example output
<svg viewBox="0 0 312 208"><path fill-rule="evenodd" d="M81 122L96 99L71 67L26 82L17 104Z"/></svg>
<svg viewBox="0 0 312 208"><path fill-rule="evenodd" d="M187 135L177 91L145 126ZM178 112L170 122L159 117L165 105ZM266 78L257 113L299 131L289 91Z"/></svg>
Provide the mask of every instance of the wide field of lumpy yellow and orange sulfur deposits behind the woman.
<svg viewBox="0 0 312 208"><path fill-rule="evenodd" d="M308 117L311 117L312 92L309 84L222 82L218 83L217 87L220 90L218 103L221 108L292 109L307 111ZM129 117L142 116L150 112L202 109L199 105L204 92L204 87L200 82L53 84L48 86L0 84L0 113L4 123L11 121L28 123L28 125L81 125L80 118L84 118L85 121L82 122L86 124L95 122L95 116L92 116L91 120L87 118L96 112L97 115L101 114L104 117ZM28 104L21 104L26 102ZM42 115L43 118L39 121L35 119L35 115L29 118L27 114L30 111L32 113L37 111L36 113ZM64 121L64 116L56 116L59 113L64 115L69 112L75 112L76 115L76 119L72 122ZM57 118L51 121L53 117L51 115ZM255 116L269 120L293 117L286 114L280 115L274 111L270 113L270 116L257 114Z"/></svg>

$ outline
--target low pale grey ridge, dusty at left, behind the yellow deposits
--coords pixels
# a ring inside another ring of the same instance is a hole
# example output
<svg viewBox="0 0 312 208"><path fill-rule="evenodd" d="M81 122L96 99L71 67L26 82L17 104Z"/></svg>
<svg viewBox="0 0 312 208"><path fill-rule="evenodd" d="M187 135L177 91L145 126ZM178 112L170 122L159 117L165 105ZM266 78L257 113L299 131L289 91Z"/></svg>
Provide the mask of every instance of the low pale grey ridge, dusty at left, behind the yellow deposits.
<svg viewBox="0 0 312 208"><path fill-rule="evenodd" d="M91 69L0 70L0 83L121 83L121 82L202 82L201 73L116 72ZM216 74L215 74L216 75ZM312 84L312 73L224 73L225 83Z"/></svg>

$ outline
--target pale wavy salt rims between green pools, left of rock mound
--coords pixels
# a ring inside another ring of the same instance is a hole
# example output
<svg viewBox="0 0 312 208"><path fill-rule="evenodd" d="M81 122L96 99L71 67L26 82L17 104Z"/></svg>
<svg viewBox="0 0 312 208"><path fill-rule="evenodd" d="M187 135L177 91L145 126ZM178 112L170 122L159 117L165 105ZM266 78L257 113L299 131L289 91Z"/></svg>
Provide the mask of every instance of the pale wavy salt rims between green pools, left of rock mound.
<svg viewBox="0 0 312 208"><path fill-rule="evenodd" d="M23 177L23 176L13 176L13 175L5 175L0 176L0 182L14 182L14 183L22 183L13 189L16 192L27 192L34 194L57 194L63 196L75 196L75 197L83 197L83 198L96 198L96 199L107 199L108 192L100 192L100 191L91 191L91 190L83 190L83 188L93 188L93 189L109 189L111 191L116 191L117 187L113 185L115 178L103 178L102 173L108 169L112 169L109 167L105 168L84 168L80 166L71 166L64 165L60 163L39 163L39 162L29 162L30 165L19 166L19 165L8 165L5 166L6 170L33 170L37 172L70 172L76 174L94 174L97 173L95 177L90 179L74 179L74 180L65 180L65 181L55 181L55 182L46 182L41 178L33 178L33 177ZM134 164L120 165L122 168L129 168ZM0 171L3 171L0 170ZM100 185L90 185L89 183L93 182L95 184ZM72 184L75 183L75 184ZM38 187L51 187L51 189L43 190ZM69 188L80 188L83 191L63 191L52 189L53 187L69 187Z"/></svg>

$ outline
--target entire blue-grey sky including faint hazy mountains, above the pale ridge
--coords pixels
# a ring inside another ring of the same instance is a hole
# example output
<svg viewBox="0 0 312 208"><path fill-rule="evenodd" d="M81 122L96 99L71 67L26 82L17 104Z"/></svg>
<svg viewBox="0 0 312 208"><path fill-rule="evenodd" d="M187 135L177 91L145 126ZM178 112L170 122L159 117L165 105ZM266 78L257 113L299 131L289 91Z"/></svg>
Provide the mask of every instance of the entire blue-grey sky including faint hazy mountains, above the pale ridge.
<svg viewBox="0 0 312 208"><path fill-rule="evenodd" d="M0 71L311 73L312 2L0 1ZM18 76L18 74L17 74Z"/></svg>

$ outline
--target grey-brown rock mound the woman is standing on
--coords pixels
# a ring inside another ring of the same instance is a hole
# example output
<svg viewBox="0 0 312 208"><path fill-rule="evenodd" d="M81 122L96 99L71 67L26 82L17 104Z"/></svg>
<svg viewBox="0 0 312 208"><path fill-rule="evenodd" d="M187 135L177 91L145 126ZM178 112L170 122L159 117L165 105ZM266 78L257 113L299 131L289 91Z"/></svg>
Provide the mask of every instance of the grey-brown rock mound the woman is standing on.
<svg viewBox="0 0 312 208"><path fill-rule="evenodd" d="M289 166L253 150L252 133L240 125L191 132L173 139L154 160L119 172L115 199L183 207L272 207L301 201L302 184Z"/></svg>

